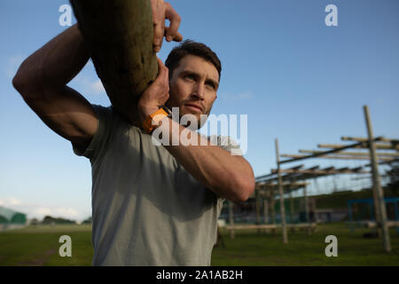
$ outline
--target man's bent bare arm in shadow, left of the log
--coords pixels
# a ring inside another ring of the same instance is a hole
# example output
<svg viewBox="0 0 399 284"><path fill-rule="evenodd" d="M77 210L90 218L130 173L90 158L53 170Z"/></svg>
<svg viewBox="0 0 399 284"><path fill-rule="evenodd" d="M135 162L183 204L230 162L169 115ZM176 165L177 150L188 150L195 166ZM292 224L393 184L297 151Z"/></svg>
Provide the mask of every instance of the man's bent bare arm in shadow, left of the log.
<svg viewBox="0 0 399 284"><path fill-rule="evenodd" d="M89 145L98 118L90 102L66 83L89 58L82 35L74 25L29 56L12 80L42 121L80 148Z"/></svg>

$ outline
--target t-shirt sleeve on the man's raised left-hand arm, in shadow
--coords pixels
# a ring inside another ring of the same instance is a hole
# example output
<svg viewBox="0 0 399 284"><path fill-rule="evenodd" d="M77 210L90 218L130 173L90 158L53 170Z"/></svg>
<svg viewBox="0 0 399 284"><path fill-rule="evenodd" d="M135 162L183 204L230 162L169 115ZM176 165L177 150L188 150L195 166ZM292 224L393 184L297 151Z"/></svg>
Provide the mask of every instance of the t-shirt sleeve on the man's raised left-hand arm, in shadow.
<svg viewBox="0 0 399 284"><path fill-rule="evenodd" d="M110 132L113 123L113 112L111 107L91 105L98 117L98 127L93 138L91 138L89 146L86 149L79 149L74 144L72 148L74 154L78 156L84 156L92 162L98 156L98 154L106 148L107 141L110 138Z"/></svg>

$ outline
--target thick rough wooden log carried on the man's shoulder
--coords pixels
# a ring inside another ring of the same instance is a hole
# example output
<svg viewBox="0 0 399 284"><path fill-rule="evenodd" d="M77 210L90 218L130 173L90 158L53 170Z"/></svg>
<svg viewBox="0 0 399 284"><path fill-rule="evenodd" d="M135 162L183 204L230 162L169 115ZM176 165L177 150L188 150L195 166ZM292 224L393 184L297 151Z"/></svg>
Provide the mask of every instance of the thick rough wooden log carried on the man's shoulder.
<svg viewBox="0 0 399 284"><path fill-rule="evenodd" d="M71 4L113 108L135 122L137 100L158 74L151 2L71 0Z"/></svg>

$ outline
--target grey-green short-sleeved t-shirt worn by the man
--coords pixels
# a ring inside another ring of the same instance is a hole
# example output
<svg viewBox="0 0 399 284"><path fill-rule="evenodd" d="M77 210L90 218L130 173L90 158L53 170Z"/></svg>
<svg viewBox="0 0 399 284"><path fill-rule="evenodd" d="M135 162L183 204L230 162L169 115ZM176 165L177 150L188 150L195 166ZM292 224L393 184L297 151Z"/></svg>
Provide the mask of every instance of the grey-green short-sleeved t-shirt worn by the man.
<svg viewBox="0 0 399 284"><path fill-rule="evenodd" d="M93 265L210 265L223 199L112 106L92 106L98 129L73 149L91 163Z"/></svg>

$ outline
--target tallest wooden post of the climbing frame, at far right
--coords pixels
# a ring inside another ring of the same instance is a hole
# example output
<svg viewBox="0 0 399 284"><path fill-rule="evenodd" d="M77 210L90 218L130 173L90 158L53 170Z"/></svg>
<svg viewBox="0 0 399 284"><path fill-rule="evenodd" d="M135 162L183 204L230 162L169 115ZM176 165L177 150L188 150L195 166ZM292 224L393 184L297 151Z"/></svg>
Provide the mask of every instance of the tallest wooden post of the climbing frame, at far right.
<svg viewBox="0 0 399 284"><path fill-rule="evenodd" d="M381 185L379 183L379 168L377 164L374 141L372 137L372 122L370 119L369 108L368 106L364 106L364 117L367 125L367 133L369 136L369 148L370 148L370 157L372 162L372 192L374 196L374 204L376 211L376 221L379 230L382 233L382 243L386 252L391 251L391 241L389 238L389 231L387 227L387 209L385 207L384 202L384 192L382 191Z"/></svg>

